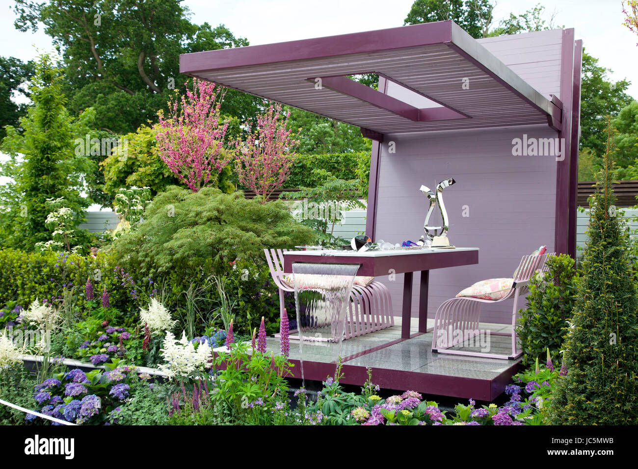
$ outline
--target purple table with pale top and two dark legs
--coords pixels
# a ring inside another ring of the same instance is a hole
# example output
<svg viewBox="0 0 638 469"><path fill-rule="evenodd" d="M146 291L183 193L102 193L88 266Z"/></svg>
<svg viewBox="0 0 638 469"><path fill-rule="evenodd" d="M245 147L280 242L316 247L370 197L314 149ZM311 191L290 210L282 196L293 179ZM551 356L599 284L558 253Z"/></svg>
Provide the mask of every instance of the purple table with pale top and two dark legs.
<svg viewBox="0 0 638 469"><path fill-rule="evenodd" d="M315 264L359 264L357 275L381 277L405 274L403 278L403 313L401 339L427 332L427 284L432 269L479 264L479 248L396 249L390 251L286 251L284 272L292 272L293 262ZM421 272L419 295L419 332L410 336L412 313L412 276Z"/></svg>

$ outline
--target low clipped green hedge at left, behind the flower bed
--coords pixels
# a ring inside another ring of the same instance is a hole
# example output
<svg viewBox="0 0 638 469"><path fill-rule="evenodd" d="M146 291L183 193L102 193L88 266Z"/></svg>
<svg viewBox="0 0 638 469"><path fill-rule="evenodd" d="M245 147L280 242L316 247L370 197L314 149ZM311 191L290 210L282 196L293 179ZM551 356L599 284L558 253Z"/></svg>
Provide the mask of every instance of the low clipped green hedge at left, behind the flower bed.
<svg viewBox="0 0 638 469"><path fill-rule="evenodd" d="M172 271L161 278L149 279L133 270L122 270L110 252L99 252L97 258L91 258L53 252L27 253L17 249L0 249L0 271L3 272L0 276L0 309L13 309L16 305L28 308L36 299L61 301L66 288L71 290L78 308L84 310L85 284L90 276L94 302L100 304L101 292L106 287L110 306L123 315L120 318L122 324L135 324L139 308L146 306L149 295L157 290L156 294L179 320L179 333L185 327L183 292L191 281L185 272ZM226 294L230 301L235 301L235 334L249 334L259 326L262 316L265 316L269 334L279 331L279 295L265 260L258 265L239 260L235 268L229 266L226 272L219 273L228 278ZM96 280L98 274L100 280ZM204 279L200 277L195 281L202 285ZM221 318L214 314L218 301L214 288L202 293L198 307L210 322L198 318L198 334L204 334L208 326L222 327ZM289 310L294 315L290 305Z"/></svg>

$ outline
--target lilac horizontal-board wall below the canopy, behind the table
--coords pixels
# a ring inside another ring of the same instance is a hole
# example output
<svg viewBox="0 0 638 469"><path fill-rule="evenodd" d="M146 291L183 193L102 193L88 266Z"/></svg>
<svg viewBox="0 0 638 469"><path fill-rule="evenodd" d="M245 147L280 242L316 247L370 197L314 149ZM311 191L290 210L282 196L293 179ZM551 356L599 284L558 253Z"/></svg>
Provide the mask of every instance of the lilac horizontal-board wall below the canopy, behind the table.
<svg viewBox="0 0 638 469"><path fill-rule="evenodd" d="M454 177L443 190L449 214L449 239L459 247L480 248L479 264L433 270L430 274L429 316L441 302L487 278L510 277L523 255L541 244L554 246L556 160L553 156L512 156L512 140L556 138L545 126L498 130L468 130L419 135L388 135L382 144L376 218L376 240L417 241L424 233L427 198L422 184ZM388 153L390 142L396 153ZM463 211L466 215L463 216ZM430 225L440 224L434 211ZM415 274L413 316L418 315ZM381 278L392 292L395 314L401 311L403 275ZM524 306L524 302L521 302ZM510 321L512 302L484 305L482 321Z"/></svg>

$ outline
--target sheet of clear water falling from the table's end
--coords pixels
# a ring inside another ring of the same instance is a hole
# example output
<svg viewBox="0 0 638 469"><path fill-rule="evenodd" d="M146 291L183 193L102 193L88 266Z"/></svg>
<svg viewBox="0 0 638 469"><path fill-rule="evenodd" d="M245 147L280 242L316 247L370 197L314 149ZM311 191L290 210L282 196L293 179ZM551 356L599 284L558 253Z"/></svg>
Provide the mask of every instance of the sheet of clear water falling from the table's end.
<svg viewBox="0 0 638 469"><path fill-rule="evenodd" d="M299 362L304 380L304 350L336 362L341 354L346 311L359 264L292 264Z"/></svg>

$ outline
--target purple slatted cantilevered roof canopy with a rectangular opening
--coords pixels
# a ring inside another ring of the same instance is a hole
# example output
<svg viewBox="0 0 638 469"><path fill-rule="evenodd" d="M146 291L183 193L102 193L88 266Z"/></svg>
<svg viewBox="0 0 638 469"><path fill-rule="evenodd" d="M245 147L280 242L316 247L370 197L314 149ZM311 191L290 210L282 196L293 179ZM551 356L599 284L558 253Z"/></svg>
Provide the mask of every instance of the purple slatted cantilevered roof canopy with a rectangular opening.
<svg viewBox="0 0 638 469"><path fill-rule="evenodd" d="M538 93L452 21L182 54L180 71L367 135L561 125L558 98ZM361 73L387 87L346 78Z"/></svg>

